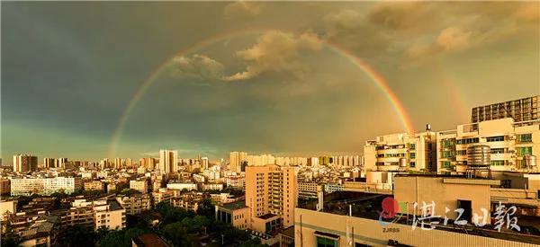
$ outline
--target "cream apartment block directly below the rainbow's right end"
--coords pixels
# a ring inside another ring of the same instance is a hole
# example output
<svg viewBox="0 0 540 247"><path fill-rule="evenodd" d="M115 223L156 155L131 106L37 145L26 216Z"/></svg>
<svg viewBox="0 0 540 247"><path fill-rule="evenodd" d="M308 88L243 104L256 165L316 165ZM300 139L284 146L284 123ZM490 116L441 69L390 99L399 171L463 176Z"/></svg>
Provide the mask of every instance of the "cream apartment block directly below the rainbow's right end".
<svg viewBox="0 0 540 247"><path fill-rule="evenodd" d="M437 139L430 130L376 137L364 146L365 171L436 172Z"/></svg>

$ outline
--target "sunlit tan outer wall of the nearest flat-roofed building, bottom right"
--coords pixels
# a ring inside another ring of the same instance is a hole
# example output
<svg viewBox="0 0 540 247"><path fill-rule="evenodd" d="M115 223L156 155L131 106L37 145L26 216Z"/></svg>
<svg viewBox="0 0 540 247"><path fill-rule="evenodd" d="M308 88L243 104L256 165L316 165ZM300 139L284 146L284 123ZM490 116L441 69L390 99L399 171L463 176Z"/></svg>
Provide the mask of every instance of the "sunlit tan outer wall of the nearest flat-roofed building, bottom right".
<svg viewBox="0 0 540 247"><path fill-rule="evenodd" d="M302 218L302 220L301 220ZM354 242L372 246L387 246L388 240L395 240L411 246L537 246L470 234L459 234L441 230L412 230L410 225L392 224L395 232L384 232L376 220L339 216L296 208L294 244L298 247L317 246L315 231L338 235L338 246L347 245L347 223L352 225ZM350 235L350 234L349 234Z"/></svg>

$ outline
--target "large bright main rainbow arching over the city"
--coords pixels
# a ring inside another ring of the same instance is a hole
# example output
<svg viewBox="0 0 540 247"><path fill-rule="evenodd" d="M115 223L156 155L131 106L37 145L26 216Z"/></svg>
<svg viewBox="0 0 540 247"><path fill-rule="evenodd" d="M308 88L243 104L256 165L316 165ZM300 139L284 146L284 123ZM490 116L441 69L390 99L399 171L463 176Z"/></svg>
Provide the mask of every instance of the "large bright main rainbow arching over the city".
<svg viewBox="0 0 540 247"><path fill-rule="evenodd" d="M112 133L112 140L111 145L109 146L108 150L108 156L109 158L113 158L114 154L116 153L116 147L118 145L118 141L121 137L121 132L123 130L123 127L125 126L129 116L130 112L135 108L137 105L137 102L139 99L146 93L148 88L151 84L154 83L157 76L161 74L161 72L166 68L166 65L173 59L174 57L178 56L184 56L189 53L192 53L193 51L197 49L202 49L206 46L209 46L213 43L219 42L221 40L231 39L235 38L241 35L248 35L248 34L259 34L265 31L282 31L289 34L294 34L293 31L283 31L283 30L275 30L275 29L244 29L239 31L227 31L222 32L218 35L211 36L210 38L207 38L205 40L201 40L193 46L188 47L186 49L183 49L179 52L177 52L174 56L168 57L166 60L164 60L155 70L153 70L140 84L139 88L133 93L133 95L130 98L130 101L127 104L126 109L123 111L121 118L118 121L118 126L115 128L114 132ZM360 57L356 57L352 52L348 51L347 49L344 49L337 44L331 43L328 40L322 40L323 44L325 44L329 49L337 52L337 54L341 57L347 58L351 63L353 63L355 66L360 68L366 75L370 77L370 79L383 91L386 98L392 103L392 107L396 114L401 119L401 124L403 128L410 134L414 134L414 128L412 127L412 123L409 117L409 114L407 113L407 110L405 110L403 104L401 103L400 99L397 97L395 93L393 93L391 87L388 85L386 80L384 79L383 75L380 75L377 73L377 71L374 70L372 66L370 66L368 63L366 63L363 59Z"/></svg>

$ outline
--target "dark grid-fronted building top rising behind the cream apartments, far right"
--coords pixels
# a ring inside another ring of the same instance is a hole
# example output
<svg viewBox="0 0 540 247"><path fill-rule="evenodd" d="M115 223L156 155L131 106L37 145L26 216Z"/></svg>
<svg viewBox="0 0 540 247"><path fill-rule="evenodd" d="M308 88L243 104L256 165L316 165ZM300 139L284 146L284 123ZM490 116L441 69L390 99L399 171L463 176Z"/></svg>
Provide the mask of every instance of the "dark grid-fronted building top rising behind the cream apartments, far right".
<svg viewBox="0 0 540 247"><path fill-rule="evenodd" d="M538 120L540 119L539 101L540 95L536 95L515 101L498 102L474 107L471 114L471 122L479 123L506 118L514 119L515 122Z"/></svg>

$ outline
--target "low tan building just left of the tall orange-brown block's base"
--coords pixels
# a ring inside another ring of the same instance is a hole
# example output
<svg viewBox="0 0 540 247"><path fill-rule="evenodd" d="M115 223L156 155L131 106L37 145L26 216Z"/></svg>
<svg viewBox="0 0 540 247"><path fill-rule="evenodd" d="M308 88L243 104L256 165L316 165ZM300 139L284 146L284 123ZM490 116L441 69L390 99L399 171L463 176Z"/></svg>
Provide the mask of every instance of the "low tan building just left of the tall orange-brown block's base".
<svg viewBox="0 0 540 247"><path fill-rule="evenodd" d="M216 221L230 224L240 230L248 227L249 208L245 200L238 200L223 205L216 205Z"/></svg>

